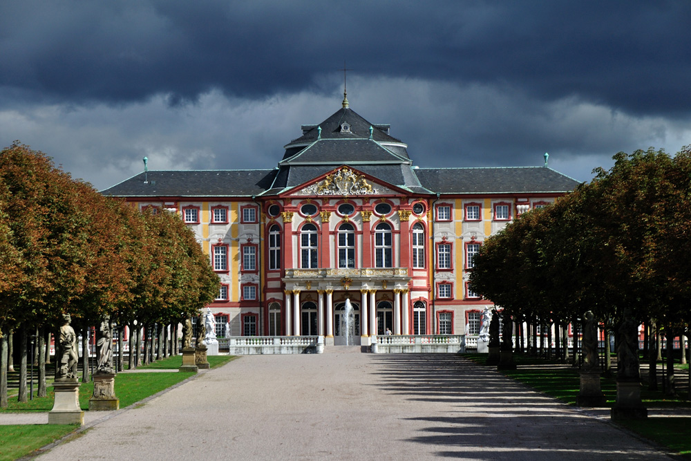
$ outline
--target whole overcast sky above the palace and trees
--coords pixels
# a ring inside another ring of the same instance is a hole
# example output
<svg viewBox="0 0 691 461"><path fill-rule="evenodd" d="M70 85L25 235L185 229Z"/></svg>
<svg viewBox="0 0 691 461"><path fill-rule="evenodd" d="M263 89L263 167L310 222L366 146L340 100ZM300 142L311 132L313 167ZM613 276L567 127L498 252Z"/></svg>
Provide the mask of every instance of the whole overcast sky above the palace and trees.
<svg viewBox="0 0 691 461"><path fill-rule="evenodd" d="M0 145L104 189L270 169L350 108L421 167L549 166L691 144L691 2L3 1Z"/></svg>

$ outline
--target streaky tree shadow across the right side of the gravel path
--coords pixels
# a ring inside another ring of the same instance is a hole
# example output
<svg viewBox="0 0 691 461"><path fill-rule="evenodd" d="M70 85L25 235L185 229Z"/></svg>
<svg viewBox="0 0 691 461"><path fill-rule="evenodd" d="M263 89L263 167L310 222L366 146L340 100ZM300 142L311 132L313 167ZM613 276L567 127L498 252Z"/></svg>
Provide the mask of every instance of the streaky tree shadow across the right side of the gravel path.
<svg viewBox="0 0 691 461"><path fill-rule="evenodd" d="M434 455L477 460L664 458L609 424L460 357L375 355L372 360L379 391L447 408L440 412L435 405L429 413L407 418L428 423L408 441L429 445Z"/></svg>

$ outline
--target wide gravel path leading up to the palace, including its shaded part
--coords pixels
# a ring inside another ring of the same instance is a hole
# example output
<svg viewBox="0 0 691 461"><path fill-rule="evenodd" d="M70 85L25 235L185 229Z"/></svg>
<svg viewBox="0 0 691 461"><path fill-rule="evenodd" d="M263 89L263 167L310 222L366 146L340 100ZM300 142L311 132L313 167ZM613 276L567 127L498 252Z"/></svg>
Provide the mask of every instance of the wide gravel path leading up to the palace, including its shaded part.
<svg viewBox="0 0 691 461"><path fill-rule="evenodd" d="M615 426L448 355L240 357L41 460L657 460Z"/></svg>

